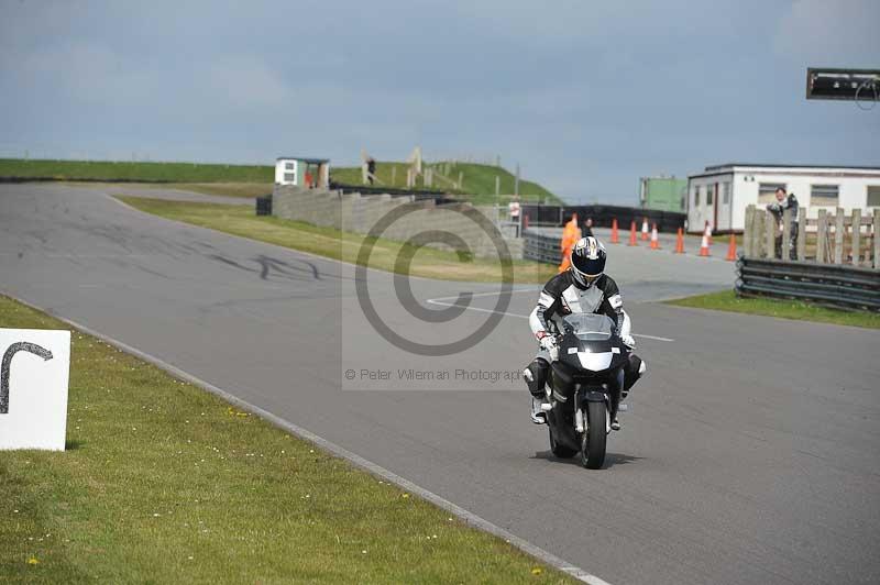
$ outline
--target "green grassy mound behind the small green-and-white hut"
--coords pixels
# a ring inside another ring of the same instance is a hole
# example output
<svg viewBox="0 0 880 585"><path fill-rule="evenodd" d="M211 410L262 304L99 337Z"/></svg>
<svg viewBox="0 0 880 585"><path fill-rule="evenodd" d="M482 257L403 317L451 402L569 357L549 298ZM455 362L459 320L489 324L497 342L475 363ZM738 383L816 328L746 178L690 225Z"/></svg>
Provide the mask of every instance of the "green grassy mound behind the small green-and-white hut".
<svg viewBox="0 0 880 585"><path fill-rule="evenodd" d="M436 189L447 191L457 198L471 201L476 205L491 205L495 198L495 177L499 178L502 203L510 200L514 192L516 177L507 169L494 165L479 165L474 163L426 163L425 168L433 169L433 184L428 187L425 185L425 177L418 177L416 187L425 189ZM378 185L385 187L402 188L406 186L406 163L397 162L376 162L376 177ZM459 173L462 174L462 186L458 188L454 183L459 180ZM447 177L444 180L439 175ZM330 177L337 183L349 185L361 185L360 167L334 167L330 166ZM562 200L538 185L529 180L519 180L520 201L535 201L548 203L561 203Z"/></svg>

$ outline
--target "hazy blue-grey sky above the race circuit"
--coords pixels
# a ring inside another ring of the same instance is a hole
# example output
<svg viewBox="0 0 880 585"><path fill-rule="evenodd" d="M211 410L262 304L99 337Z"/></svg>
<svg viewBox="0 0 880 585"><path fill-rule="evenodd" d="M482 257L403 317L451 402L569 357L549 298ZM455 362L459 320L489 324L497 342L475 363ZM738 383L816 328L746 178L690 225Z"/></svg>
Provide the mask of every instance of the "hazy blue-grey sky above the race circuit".
<svg viewBox="0 0 880 585"><path fill-rule="evenodd" d="M880 1L0 0L0 156L494 158L570 201L723 162L880 165Z"/></svg>

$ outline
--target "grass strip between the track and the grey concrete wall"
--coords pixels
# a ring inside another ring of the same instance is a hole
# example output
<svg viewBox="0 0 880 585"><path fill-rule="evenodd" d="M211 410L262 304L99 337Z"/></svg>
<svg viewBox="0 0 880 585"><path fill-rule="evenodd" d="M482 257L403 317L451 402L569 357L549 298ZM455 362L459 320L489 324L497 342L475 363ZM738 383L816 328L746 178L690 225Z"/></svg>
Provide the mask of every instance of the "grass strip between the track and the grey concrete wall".
<svg viewBox="0 0 880 585"><path fill-rule="evenodd" d="M120 197L120 199L141 211L163 218L301 250L351 264L355 263L364 240L360 234L341 232L332 228L319 228L300 221L271 217L256 217L253 209L245 207L139 197ZM343 242L350 245L342 245ZM395 261L402 250L403 244L399 242L378 240L373 249L370 266L381 271L395 272ZM502 279L502 267L497 261L472 258L463 262L452 252L424 247L415 255L409 274L444 280L498 283ZM553 274L556 274L556 267L548 264L528 261L514 262L514 278L518 284L543 284Z"/></svg>

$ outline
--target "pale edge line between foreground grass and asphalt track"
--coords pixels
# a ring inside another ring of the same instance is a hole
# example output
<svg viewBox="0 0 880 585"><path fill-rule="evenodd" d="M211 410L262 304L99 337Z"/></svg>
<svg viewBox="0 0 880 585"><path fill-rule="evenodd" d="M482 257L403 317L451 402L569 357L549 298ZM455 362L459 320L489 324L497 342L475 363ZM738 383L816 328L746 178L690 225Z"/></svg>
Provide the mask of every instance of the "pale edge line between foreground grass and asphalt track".
<svg viewBox="0 0 880 585"><path fill-rule="evenodd" d="M298 424L294 424L293 422L290 422L288 420L285 420L285 419L280 418L280 417L278 417L277 415L273 415L268 410L264 410L263 408L260 408L258 406L252 405L252 404L248 402L246 400L242 400L241 398L229 394L228 391L223 390L222 388L219 388L219 387L215 386L213 384L210 384L209 382L205 382L204 379L201 379L201 378L199 378L197 376L194 376L193 374L189 374L189 373L180 369L179 367L165 362L164 360L155 357L155 356L153 356L153 355L151 355L148 353L142 352L141 350L138 350L136 347L133 347L133 346L131 346L131 345L129 345L127 343L123 343L123 342L121 342L121 341L119 341L117 339L113 339L113 338L111 338L109 335L105 335L103 333L100 333L99 331L96 331L96 330L94 330L94 329L91 329L89 327L86 327L86 325L82 325L80 323L77 323L76 321L74 321L72 319L67 319L65 317L62 317L62 316L55 313L52 310L47 310L47 309L44 309L44 308L38 307L36 305L33 305L33 303L31 303L31 302L29 302L26 300L23 300L23 299L19 298L15 295L12 295L8 290L0 289L0 294L3 294L7 297L16 300L18 302L21 302L25 307L30 307L31 309L34 309L34 310L44 312L44 313L46 313L46 314L48 314L51 317L54 317L55 319L58 319L59 321L63 321L63 322L69 324L70 327L73 327L75 329L78 329L79 331L81 331L84 333L87 333L87 334L89 334L89 335L91 335L94 338L98 338L98 339L102 340L103 342L106 342L106 343L108 343L110 345L113 345L119 350L124 351L125 353L130 353L131 355L134 355L135 357L138 357L140 360L143 360L144 362L148 362L148 363L153 364L154 366L158 367L160 369L164 369L165 372L167 372L169 374L173 374L174 376L177 376L178 378L185 379L185 380L189 382L190 384L193 384L195 386L198 386L198 387L200 387L200 388L202 388L205 390L208 390L209 393L213 394L215 396L218 396L218 397L222 398L223 400L226 400L228 402L231 402L232 405L235 405L238 407L241 407L241 408L244 408L246 410L250 410L254 415L257 415L260 418L271 422L272 424L274 424L274 426L276 426L276 427L278 427L278 428L280 428L280 429L285 430L285 431L288 431L292 434L295 434L295 435L297 435L297 437L299 437L301 439L310 441L310 442L315 443L316 445L324 449L326 451L329 451L332 454L349 461L353 465L355 465L358 467L361 467L362 470L365 470L365 471L372 473L373 475L377 475L377 476L380 476L380 477L382 477L384 479L387 479L387 481L389 481L389 482L392 482L394 484L397 484L398 486L400 486L402 488L406 489L407 492L411 492L413 494L416 494L420 498L430 501L435 506L438 506L438 507L449 511L450 514L452 514L454 516L458 516L459 518L464 520L465 523L471 525L471 526L476 527L476 528L479 528L479 529L481 529L481 530L483 530L485 532L488 532L491 534L494 534L494 536L496 536L498 538L504 539L505 541L507 541L508 543L513 544L517 549L530 554L531 556L535 556L539 561L544 562L544 563L553 566L554 569L558 569L558 570L562 571L563 573L566 573L566 574L578 578L579 581L582 581L584 583L588 583L590 585L610 585L608 582L603 581L602 578L600 578L600 577L597 577L597 576L595 576L595 575L593 575L591 573L587 573L586 571L584 571L583 569L581 569L579 566L574 566L573 564L569 563L566 561L563 561L559 556L556 556L554 554L552 554L552 553L550 553L550 552L548 552L548 551L546 551L546 550L532 544L531 542L529 542L529 541L527 541L525 539L521 539L521 538L517 537L516 534L514 534L512 532L508 532L504 528L502 528L499 526L496 526L496 525L490 522L488 520L486 520L486 519L484 519L484 518L482 518L482 517L480 517L480 516L477 516L477 515L475 515L475 514L473 514L471 511L465 510L464 508L462 508L462 507L449 501L448 499L444 499L443 497L438 496L433 492L430 492L430 490L428 490L428 489L426 489L424 487L420 487L420 486L414 484L413 482L410 482L409 479L406 479L406 478L395 474L394 472L391 472L391 471L386 470L385 467L382 467L381 465L378 465L376 463L373 463L370 460L366 460L366 459L364 459L364 457L362 457L362 456L360 456L360 455L358 455L355 453L352 453L351 451L346 450L345 448L340 446L340 445L338 445L336 443L332 443L332 442L328 441L327 439L323 439L323 438L312 433L311 431L308 431L308 430L304 429L302 427L299 427Z"/></svg>

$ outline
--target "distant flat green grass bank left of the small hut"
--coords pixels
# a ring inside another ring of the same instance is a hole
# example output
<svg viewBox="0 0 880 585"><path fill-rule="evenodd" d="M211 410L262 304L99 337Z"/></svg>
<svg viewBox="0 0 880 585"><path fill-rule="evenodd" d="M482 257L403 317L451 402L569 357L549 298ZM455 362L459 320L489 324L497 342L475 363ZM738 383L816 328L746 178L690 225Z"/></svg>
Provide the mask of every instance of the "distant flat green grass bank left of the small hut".
<svg viewBox="0 0 880 585"><path fill-rule="evenodd" d="M271 185L275 180L275 167L264 165L0 158L0 177L108 181L261 183Z"/></svg>

